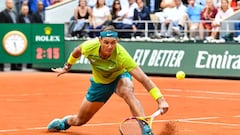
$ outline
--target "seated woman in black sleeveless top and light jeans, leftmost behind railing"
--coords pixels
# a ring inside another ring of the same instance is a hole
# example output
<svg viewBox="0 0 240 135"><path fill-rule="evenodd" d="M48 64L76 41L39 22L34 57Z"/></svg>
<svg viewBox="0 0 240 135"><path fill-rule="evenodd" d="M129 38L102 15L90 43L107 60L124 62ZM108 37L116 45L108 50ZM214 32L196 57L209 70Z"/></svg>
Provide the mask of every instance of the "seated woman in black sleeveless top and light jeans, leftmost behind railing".
<svg viewBox="0 0 240 135"><path fill-rule="evenodd" d="M70 24L71 36L86 36L86 28L89 26L89 20L92 16L91 7L87 6L86 0L79 0L79 5L74 9L74 20Z"/></svg>

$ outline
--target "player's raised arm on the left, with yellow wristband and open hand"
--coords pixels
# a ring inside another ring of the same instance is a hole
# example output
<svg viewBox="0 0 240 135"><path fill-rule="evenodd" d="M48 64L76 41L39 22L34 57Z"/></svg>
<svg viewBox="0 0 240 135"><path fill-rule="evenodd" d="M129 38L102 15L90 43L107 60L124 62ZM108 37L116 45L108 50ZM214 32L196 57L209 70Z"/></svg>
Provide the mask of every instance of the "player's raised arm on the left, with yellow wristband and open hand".
<svg viewBox="0 0 240 135"><path fill-rule="evenodd" d="M51 68L51 70L58 73L57 76L67 73L71 69L72 65L77 62L80 56L81 48L77 46L68 57L68 61L64 64L63 68Z"/></svg>

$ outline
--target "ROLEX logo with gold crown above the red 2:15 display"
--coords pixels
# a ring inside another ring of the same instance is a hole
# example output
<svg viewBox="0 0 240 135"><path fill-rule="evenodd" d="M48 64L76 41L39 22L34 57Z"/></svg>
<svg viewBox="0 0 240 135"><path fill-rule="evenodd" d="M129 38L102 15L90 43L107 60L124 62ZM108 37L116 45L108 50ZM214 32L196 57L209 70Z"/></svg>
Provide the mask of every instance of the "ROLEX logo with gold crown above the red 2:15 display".
<svg viewBox="0 0 240 135"><path fill-rule="evenodd" d="M61 42L60 35L49 26L44 27L43 29L43 34L38 33L35 35L35 42Z"/></svg>

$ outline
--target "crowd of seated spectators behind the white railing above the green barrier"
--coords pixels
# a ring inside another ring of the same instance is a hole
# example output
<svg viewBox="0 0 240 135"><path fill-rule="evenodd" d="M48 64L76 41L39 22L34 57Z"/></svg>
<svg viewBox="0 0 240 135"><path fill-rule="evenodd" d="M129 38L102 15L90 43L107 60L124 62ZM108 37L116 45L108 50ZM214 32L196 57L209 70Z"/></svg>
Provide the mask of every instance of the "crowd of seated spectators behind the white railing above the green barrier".
<svg viewBox="0 0 240 135"><path fill-rule="evenodd" d="M98 37L99 30L111 24L119 31L120 38L145 37L147 30L148 37L218 39L221 21L239 10L239 1L88 0L86 6L92 13L87 19L89 26L78 31L77 35L82 37L79 33L85 31L86 37ZM153 17L157 18L157 22L153 21ZM237 30L235 37L238 37L240 23L234 23L234 27Z"/></svg>

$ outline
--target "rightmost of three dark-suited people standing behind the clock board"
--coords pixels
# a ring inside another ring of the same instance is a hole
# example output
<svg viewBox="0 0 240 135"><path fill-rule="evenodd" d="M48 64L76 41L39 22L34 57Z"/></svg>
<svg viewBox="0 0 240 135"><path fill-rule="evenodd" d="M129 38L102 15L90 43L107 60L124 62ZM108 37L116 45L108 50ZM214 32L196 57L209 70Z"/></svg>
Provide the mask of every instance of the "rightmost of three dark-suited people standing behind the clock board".
<svg viewBox="0 0 240 135"><path fill-rule="evenodd" d="M37 12L33 13L32 17L33 17L34 23L44 23L45 12L44 12L44 5L42 1L38 1L38 10Z"/></svg>

